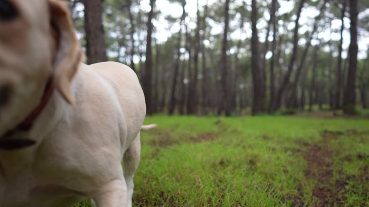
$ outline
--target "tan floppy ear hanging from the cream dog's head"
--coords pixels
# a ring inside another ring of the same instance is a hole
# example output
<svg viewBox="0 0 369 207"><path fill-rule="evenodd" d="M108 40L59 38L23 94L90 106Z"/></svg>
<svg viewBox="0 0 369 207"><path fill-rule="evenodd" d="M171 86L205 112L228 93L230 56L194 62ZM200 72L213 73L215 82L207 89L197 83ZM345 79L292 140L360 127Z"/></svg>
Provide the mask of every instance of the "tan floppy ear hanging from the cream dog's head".
<svg viewBox="0 0 369 207"><path fill-rule="evenodd" d="M48 4L51 30L54 29L57 33L56 52L53 58L54 83L63 98L72 104L70 83L77 72L83 52L70 18L68 1L48 0Z"/></svg>

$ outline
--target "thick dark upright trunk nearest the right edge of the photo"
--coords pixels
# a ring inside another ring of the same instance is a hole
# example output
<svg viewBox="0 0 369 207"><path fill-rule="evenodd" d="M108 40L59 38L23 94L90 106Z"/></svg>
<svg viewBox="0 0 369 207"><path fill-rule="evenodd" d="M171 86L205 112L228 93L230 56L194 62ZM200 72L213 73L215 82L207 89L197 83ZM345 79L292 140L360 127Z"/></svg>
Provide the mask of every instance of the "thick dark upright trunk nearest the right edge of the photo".
<svg viewBox="0 0 369 207"><path fill-rule="evenodd" d="M349 46L349 69L347 76L347 105L345 106L345 113L355 113L355 90L356 90L356 68L358 64L358 0L350 0L350 35L351 42Z"/></svg>

